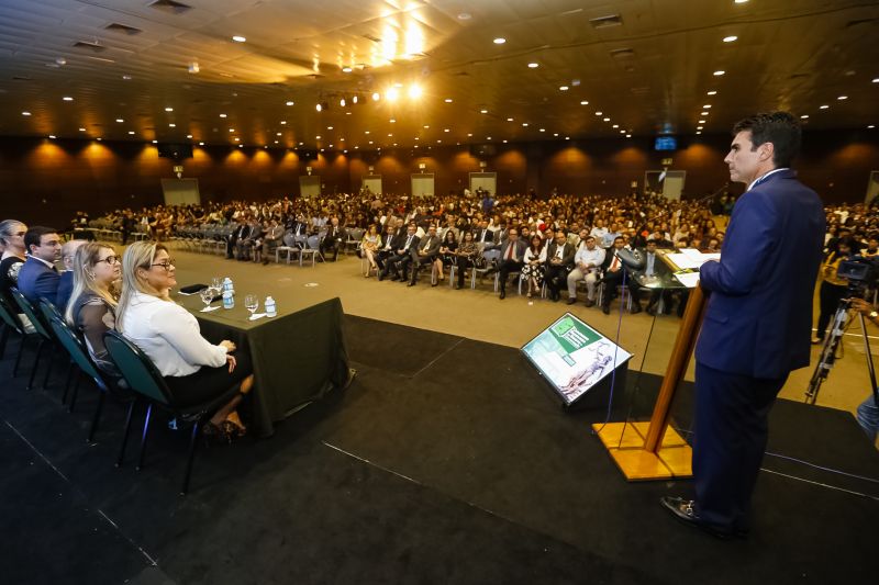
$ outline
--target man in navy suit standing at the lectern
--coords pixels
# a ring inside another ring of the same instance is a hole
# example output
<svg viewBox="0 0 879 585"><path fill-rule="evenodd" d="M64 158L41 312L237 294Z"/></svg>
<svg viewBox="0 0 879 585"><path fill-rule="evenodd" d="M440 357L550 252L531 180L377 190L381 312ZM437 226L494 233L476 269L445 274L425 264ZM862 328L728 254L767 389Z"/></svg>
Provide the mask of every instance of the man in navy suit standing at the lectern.
<svg viewBox="0 0 879 585"><path fill-rule="evenodd" d="M661 500L719 537L747 533L769 410L791 370L809 365L825 232L821 200L790 169L798 120L757 114L733 134L724 161L731 180L748 188L733 210L721 260L701 268L711 296L696 347L696 499Z"/></svg>

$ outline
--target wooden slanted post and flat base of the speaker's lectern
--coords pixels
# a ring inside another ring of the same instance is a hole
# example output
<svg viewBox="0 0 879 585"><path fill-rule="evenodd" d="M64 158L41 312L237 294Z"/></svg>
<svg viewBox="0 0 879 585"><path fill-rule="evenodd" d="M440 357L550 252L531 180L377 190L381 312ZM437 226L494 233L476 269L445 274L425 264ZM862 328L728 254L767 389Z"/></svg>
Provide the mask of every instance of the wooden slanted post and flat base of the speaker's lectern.
<svg viewBox="0 0 879 585"><path fill-rule="evenodd" d="M592 429L630 482L685 479L693 475L692 449L675 429L668 428L668 418L675 392L687 372L690 356L696 348L704 308L705 295L702 289L699 285L690 289L690 299L650 421L592 425Z"/></svg>

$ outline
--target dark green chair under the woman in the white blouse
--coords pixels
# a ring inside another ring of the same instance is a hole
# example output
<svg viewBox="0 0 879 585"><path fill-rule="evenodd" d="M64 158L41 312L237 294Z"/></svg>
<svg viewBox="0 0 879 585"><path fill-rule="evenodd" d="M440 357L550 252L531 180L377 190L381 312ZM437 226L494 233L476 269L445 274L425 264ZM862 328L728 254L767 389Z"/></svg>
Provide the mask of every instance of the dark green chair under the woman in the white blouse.
<svg viewBox="0 0 879 585"><path fill-rule="evenodd" d="M120 373L127 383L129 387L137 393L141 398L147 403L146 416L144 417L144 428L141 436L141 453L137 458L136 470L141 470L144 464L144 454L146 452L146 439L149 432L149 419L153 413L153 407L156 406L170 413L177 420L191 420L192 432L189 438L189 454L186 463L186 473L183 475L183 485L180 494L185 495L189 491L189 476L192 473L192 460L196 455L196 443L201 427L209 413L216 412L221 406L231 401L237 393L238 387L233 386L227 392L216 396L215 398L191 406L182 406L175 398L174 393L165 383L165 379L156 369L149 357L144 353L141 348L129 341L123 335L118 331L107 331L103 334L104 345L113 363L116 364ZM133 402L125 423L125 434L122 438L122 448L119 452L118 465L122 465L125 457L125 443L129 439L129 430L131 428L131 419L134 412L135 403Z"/></svg>

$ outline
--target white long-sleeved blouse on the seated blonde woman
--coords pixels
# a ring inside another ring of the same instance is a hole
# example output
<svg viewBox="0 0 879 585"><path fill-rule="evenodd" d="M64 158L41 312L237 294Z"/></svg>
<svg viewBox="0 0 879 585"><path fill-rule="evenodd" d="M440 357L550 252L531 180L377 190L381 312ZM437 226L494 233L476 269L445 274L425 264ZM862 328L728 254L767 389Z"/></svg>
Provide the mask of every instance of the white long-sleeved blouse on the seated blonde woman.
<svg viewBox="0 0 879 585"><path fill-rule="evenodd" d="M226 363L226 348L204 339L191 313L149 294L134 293L122 333L153 360L162 375L189 375L202 365Z"/></svg>

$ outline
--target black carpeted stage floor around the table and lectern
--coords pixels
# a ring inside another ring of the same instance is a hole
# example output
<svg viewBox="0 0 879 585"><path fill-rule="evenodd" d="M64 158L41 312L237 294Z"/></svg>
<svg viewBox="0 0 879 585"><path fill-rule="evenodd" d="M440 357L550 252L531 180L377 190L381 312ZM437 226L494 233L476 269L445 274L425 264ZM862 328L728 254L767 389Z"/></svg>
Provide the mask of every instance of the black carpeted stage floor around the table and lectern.
<svg viewBox="0 0 879 585"><path fill-rule="evenodd" d="M876 484L770 455L747 540L717 541L660 509L689 482L628 484L516 348L346 317L351 387L272 439L201 449L177 494L186 437L156 425L147 465L113 461L123 408L25 391L0 362L4 584L872 583ZM37 378L40 380L41 378ZM630 371L614 419L648 414L658 378ZM638 392L633 387L639 386ZM691 389L675 421L690 428ZM646 405L646 409L645 409ZM831 438L831 440L827 440ZM133 450L132 450L133 451ZM879 477L854 418L779 401L769 451ZM132 453L133 455L133 453ZM788 475L799 476L800 481ZM832 490L819 484L834 485ZM854 537L854 538L853 538Z"/></svg>

